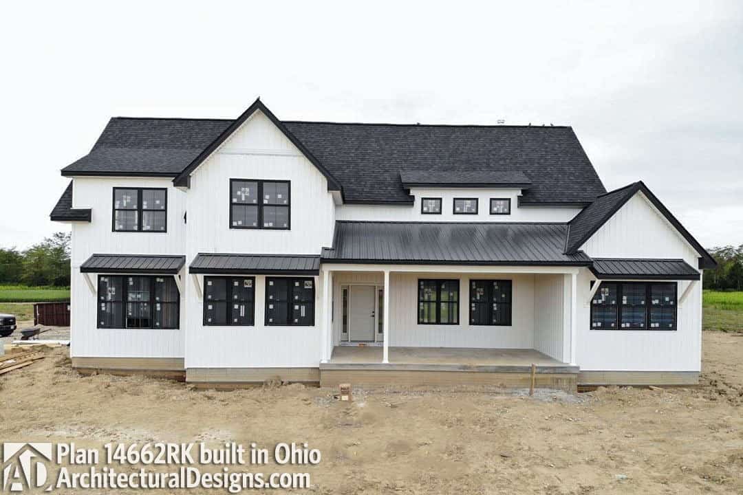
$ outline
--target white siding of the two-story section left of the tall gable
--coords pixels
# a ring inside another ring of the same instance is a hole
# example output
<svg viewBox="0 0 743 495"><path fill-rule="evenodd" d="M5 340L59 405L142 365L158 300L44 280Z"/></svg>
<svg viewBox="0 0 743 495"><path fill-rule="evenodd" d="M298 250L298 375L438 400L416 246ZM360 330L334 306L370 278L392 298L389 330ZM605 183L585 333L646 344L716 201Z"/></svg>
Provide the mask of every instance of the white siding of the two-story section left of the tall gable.
<svg viewBox="0 0 743 495"><path fill-rule="evenodd" d="M113 232L113 189L167 189L167 232ZM186 300L181 295L181 328L97 328L97 295L91 293L80 265L94 253L184 255L186 194L169 178L74 177L74 208L90 208L90 223L72 223L70 355L109 358L183 358ZM97 288L97 274L89 274Z"/></svg>

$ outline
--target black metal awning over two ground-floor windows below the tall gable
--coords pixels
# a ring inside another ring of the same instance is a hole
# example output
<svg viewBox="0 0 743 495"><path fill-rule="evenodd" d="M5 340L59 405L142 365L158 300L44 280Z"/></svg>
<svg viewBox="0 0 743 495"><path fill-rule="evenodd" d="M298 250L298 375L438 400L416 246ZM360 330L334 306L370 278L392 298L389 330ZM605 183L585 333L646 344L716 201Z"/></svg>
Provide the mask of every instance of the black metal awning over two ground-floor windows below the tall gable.
<svg viewBox="0 0 743 495"><path fill-rule="evenodd" d="M199 253L189 273L214 275L319 275L319 255Z"/></svg>

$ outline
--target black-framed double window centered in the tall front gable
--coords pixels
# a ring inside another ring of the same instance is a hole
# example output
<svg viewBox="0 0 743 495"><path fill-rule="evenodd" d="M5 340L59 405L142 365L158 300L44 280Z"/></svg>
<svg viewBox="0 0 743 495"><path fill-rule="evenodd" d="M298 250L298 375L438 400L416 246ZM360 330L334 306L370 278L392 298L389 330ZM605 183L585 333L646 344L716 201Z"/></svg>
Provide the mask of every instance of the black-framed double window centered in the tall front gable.
<svg viewBox="0 0 743 495"><path fill-rule="evenodd" d="M230 179L230 229L290 228L288 180Z"/></svg>

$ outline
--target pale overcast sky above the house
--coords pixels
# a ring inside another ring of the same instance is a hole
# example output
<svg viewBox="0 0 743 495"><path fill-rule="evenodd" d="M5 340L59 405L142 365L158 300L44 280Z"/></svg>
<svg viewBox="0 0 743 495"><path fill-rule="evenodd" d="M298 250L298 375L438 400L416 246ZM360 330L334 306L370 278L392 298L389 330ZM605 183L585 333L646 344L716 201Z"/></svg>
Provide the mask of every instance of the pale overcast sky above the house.
<svg viewBox="0 0 743 495"><path fill-rule="evenodd" d="M704 246L743 243L743 2L7 1L0 246L114 116L572 125Z"/></svg>

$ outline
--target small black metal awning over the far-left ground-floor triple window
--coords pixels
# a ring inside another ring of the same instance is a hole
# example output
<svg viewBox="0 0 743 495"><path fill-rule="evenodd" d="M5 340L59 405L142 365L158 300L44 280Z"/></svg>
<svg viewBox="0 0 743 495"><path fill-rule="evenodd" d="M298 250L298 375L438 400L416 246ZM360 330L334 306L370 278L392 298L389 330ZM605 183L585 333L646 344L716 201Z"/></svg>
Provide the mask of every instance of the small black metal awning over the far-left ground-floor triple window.
<svg viewBox="0 0 743 495"><path fill-rule="evenodd" d="M80 272L176 275L184 264L186 257L179 255L92 255Z"/></svg>

